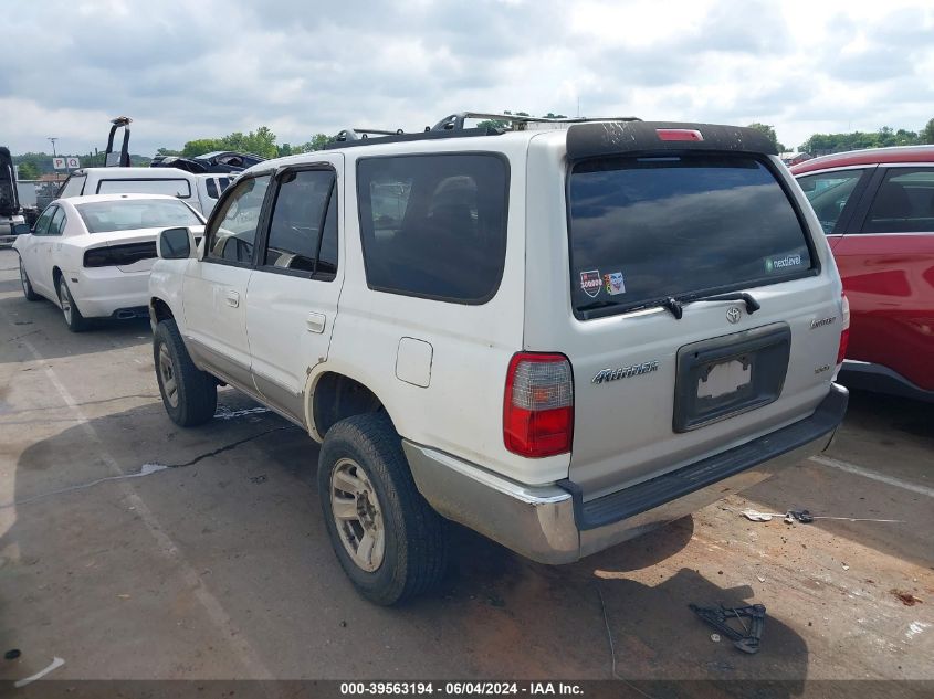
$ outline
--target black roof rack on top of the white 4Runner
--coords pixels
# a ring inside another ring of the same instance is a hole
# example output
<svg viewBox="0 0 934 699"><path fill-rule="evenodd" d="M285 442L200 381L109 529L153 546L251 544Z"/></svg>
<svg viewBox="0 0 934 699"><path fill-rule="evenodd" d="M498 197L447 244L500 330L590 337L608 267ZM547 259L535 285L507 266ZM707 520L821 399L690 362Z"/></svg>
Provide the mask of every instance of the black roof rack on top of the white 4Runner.
<svg viewBox="0 0 934 699"><path fill-rule="evenodd" d="M492 126L466 128L468 119L487 121L508 121L512 130L524 131L529 124L585 124L587 121L641 121L639 117L534 117L523 114L496 114L489 112L459 112L451 114L434 126L426 126L423 131L403 131L402 129L348 128L339 131L334 140L327 144L325 150L347 148L350 146L369 146L377 144L395 144L399 141L427 140L438 138L461 138L471 136L497 136L505 129ZM371 139L370 136L377 138Z"/></svg>

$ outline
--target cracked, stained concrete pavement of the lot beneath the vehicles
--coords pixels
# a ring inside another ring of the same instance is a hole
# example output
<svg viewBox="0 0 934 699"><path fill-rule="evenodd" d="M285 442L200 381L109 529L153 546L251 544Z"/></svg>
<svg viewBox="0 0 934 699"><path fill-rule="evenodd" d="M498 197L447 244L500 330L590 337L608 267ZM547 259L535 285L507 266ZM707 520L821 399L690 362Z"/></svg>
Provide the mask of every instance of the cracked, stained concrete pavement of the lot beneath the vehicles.
<svg viewBox="0 0 934 699"><path fill-rule="evenodd" d="M143 321L69 333L0 251L0 652L22 652L0 680L53 657L67 679L605 679L608 631L629 680L934 679L934 406L853 396L829 456L889 483L805 462L562 568L456 530L442 587L385 610L332 553L317 446L230 390L211 424L176 427L149 342ZM183 467L115 478L147 464ZM765 604L762 652L711 642L690 602Z"/></svg>

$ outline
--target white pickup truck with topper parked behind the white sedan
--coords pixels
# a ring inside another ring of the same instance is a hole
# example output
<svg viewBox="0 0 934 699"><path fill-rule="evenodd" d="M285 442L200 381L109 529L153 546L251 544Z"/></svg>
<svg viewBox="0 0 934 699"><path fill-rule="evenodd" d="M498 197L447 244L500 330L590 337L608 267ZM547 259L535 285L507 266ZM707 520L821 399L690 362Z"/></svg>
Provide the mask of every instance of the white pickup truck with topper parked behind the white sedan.
<svg viewBox="0 0 934 699"><path fill-rule="evenodd" d="M59 199L88 194L167 194L208 215L230 182L230 176L192 174L168 168L82 168L65 180Z"/></svg>

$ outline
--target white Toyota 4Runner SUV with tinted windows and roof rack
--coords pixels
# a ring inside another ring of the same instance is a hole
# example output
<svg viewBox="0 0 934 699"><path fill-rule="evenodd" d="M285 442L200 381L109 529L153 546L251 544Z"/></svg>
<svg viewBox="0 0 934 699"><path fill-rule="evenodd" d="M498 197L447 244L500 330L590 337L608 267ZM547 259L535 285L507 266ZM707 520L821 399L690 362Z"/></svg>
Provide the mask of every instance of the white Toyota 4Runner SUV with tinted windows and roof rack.
<svg viewBox="0 0 934 699"><path fill-rule="evenodd" d="M380 604L439 580L445 519L576 561L826 448L847 405L840 278L764 137L465 116L245 171L150 278L171 419L222 382L322 442Z"/></svg>

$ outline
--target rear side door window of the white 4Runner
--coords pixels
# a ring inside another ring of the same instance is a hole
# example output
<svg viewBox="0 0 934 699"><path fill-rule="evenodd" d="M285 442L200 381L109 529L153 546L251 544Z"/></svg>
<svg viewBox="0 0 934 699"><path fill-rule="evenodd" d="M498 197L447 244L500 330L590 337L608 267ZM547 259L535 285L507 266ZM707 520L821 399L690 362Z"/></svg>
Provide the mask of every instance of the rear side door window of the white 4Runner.
<svg viewBox="0 0 934 699"><path fill-rule="evenodd" d="M337 233L337 210L333 205L337 197L333 195L333 190L334 172L330 170L293 171L280 178L265 265L308 275L337 271L336 241L332 251L330 244L326 245L322 240L323 230L333 229L335 237ZM319 242L323 258L316 264Z"/></svg>

